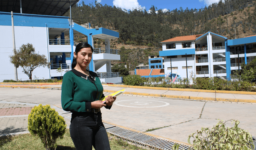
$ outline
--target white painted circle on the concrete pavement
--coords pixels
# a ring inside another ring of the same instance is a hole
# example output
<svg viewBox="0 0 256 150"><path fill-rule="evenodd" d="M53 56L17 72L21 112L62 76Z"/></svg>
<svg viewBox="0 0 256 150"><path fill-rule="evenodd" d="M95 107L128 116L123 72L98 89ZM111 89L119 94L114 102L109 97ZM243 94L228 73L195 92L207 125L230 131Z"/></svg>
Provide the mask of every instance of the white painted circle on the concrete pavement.
<svg viewBox="0 0 256 150"><path fill-rule="evenodd" d="M153 108L153 107L165 107L170 105L169 103L162 101L151 101L151 100L124 100L114 102L115 105L123 107L135 107L135 108Z"/></svg>

